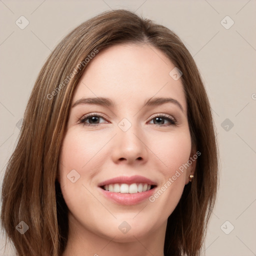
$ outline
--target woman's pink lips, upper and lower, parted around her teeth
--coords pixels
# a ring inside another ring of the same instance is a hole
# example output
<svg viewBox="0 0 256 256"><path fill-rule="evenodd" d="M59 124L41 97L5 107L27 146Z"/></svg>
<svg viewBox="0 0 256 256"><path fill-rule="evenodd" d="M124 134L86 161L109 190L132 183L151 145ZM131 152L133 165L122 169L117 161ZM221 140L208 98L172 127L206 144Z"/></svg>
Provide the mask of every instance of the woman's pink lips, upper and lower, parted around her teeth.
<svg viewBox="0 0 256 256"><path fill-rule="evenodd" d="M152 195L156 189L156 187L153 187L150 190L144 191L144 192L137 192L137 193L116 193L116 192L109 192L106 191L100 186L113 184L113 183L126 183L126 184L132 184L132 183L147 183L149 185L156 185L155 182L152 180L145 178L143 176L134 175L131 177L128 176L119 176L115 178L111 178L105 181L102 181L98 184L100 191L103 193L103 195L119 204L123 205L134 205L137 204L146 198L148 198L150 195Z"/></svg>

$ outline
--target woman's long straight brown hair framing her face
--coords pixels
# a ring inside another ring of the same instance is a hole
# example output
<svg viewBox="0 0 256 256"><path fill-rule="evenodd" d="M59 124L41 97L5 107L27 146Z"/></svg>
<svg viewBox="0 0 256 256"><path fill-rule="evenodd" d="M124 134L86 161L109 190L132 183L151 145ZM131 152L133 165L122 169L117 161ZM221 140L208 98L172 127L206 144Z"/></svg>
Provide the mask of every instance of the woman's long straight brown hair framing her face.
<svg viewBox="0 0 256 256"><path fill-rule="evenodd" d="M200 253L218 186L215 126L202 79L174 32L132 11L115 9L81 23L60 41L28 99L1 193L2 227L19 256L59 256L66 246L67 206L56 177L73 91L92 52L120 43L156 47L182 71L191 143L201 155L192 182L167 219L164 255ZM20 221L29 226L22 235L15 229Z"/></svg>

